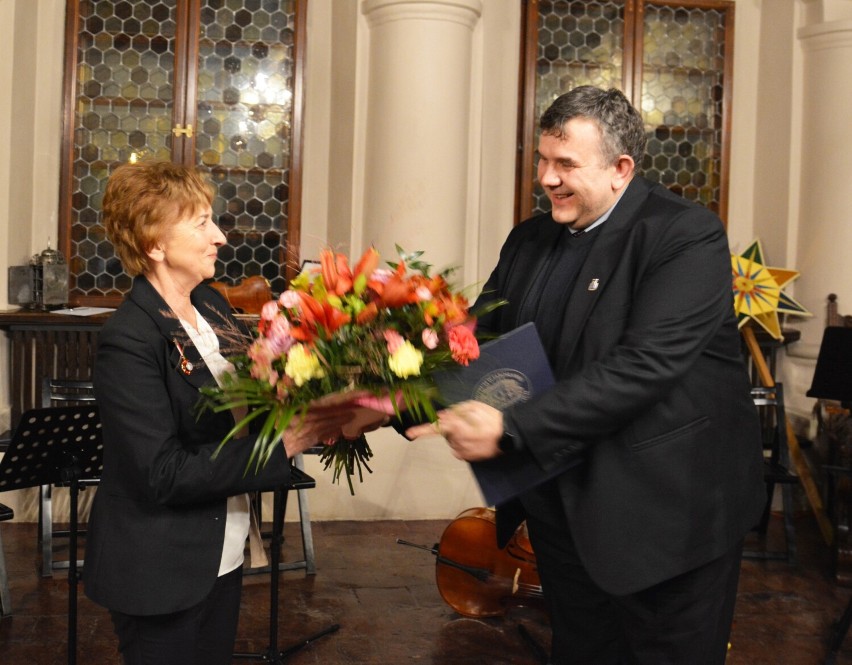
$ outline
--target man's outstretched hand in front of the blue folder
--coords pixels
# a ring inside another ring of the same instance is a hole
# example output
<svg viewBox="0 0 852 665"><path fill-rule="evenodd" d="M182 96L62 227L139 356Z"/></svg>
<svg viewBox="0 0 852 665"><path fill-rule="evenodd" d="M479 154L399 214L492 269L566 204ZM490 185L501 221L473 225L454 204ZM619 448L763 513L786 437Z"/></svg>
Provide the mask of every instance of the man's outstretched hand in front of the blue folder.
<svg viewBox="0 0 852 665"><path fill-rule="evenodd" d="M410 439L421 436L443 436L455 457L479 462L500 454L503 436L503 414L484 402L461 402L438 412L438 421L416 425L405 431Z"/></svg>

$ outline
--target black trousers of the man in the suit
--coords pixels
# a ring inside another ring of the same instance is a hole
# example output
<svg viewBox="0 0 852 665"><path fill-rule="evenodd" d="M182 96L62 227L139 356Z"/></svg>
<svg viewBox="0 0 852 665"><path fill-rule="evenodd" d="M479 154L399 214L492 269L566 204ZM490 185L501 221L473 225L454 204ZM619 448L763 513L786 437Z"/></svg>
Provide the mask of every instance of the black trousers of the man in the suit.
<svg viewBox="0 0 852 665"><path fill-rule="evenodd" d="M601 590L570 534L527 519L548 601L553 665L722 665L742 542L695 570L627 596Z"/></svg>

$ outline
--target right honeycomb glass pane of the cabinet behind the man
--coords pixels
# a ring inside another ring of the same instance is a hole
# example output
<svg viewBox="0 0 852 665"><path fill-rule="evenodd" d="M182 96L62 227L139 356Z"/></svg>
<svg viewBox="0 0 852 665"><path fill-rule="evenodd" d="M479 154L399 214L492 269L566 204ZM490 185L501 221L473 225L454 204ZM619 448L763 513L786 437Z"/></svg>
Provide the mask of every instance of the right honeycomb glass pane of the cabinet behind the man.
<svg viewBox="0 0 852 665"><path fill-rule="evenodd" d="M647 5L642 115L646 177L719 212L725 13Z"/></svg>

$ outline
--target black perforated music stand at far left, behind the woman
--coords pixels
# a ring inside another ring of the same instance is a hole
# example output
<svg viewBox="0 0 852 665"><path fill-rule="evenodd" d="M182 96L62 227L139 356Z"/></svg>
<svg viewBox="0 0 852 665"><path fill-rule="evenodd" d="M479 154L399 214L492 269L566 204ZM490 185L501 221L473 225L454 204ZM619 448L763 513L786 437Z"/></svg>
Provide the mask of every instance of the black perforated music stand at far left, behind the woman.
<svg viewBox="0 0 852 665"><path fill-rule="evenodd" d="M70 497L68 555L68 663L77 660L77 494L80 480L101 475L103 439L98 407L32 409L21 416L0 461L0 492L67 485Z"/></svg>

